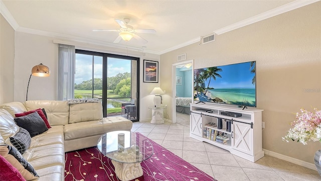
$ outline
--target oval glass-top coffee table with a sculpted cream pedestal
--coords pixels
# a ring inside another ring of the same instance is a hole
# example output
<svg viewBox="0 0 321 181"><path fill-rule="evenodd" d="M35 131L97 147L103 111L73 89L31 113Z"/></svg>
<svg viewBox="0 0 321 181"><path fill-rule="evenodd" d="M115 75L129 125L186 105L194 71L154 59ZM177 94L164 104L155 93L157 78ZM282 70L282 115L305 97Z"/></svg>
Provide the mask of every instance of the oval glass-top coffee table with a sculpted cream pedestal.
<svg viewBox="0 0 321 181"><path fill-rule="evenodd" d="M118 144L118 134L124 134L123 144ZM131 180L143 175L140 162L153 154L146 137L130 131L112 131L103 134L97 143L101 153L111 159L120 180Z"/></svg>

